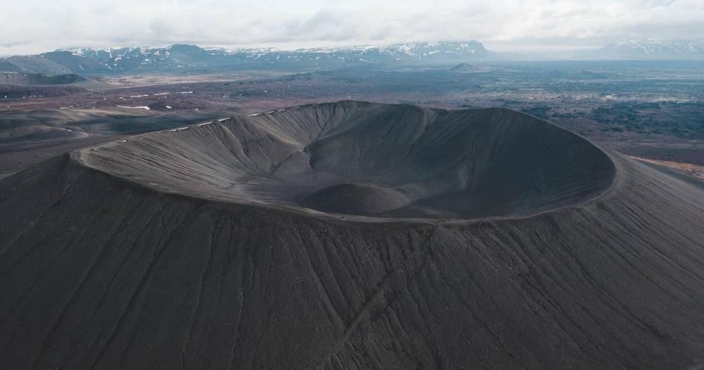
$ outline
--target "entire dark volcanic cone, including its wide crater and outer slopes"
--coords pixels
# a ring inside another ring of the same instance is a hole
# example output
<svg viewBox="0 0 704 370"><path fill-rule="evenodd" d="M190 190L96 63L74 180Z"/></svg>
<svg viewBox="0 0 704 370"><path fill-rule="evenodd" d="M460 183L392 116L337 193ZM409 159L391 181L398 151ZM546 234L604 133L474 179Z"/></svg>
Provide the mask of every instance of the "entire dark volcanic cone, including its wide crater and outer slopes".
<svg viewBox="0 0 704 370"><path fill-rule="evenodd" d="M508 109L339 101L0 180L0 368L687 369L704 192Z"/></svg>

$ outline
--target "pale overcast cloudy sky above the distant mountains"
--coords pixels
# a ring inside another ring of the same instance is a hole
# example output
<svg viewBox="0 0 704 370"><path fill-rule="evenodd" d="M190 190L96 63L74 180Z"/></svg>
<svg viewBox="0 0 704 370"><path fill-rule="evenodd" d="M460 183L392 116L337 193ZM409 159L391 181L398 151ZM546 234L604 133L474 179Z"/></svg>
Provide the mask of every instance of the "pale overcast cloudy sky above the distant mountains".
<svg viewBox="0 0 704 370"><path fill-rule="evenodd" d="M496 51L700 39L704 0L0 0L0 54L65 47L282 48L477 39Z"/></svg>

